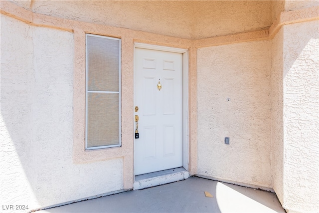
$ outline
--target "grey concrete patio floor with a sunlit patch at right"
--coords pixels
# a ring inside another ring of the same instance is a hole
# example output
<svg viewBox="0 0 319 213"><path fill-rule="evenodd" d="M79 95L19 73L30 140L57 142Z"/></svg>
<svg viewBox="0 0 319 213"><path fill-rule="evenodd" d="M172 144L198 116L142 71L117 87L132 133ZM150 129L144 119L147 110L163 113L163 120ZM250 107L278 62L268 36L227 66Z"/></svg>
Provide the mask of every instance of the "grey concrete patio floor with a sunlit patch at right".
<svg viewBox="0 0 319 213"><path fill-rule="evenodd" d="M213 198L205 197L209 192ZM82 201L39 213L285 213L274 193L190 177L184 181Z"/></svg>

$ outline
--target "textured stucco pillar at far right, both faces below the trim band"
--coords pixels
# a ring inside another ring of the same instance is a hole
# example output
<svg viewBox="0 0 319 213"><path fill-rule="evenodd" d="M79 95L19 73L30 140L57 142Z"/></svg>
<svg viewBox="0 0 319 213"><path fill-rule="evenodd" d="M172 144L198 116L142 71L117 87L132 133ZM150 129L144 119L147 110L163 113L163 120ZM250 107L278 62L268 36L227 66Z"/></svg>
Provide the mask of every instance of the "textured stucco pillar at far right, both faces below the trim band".
<svg viewBox="0 0 319 213"><path fill-rule="evenodd" d="M318 24L285 25L272 41L273 187L289 212L319 211Z"/></svg>

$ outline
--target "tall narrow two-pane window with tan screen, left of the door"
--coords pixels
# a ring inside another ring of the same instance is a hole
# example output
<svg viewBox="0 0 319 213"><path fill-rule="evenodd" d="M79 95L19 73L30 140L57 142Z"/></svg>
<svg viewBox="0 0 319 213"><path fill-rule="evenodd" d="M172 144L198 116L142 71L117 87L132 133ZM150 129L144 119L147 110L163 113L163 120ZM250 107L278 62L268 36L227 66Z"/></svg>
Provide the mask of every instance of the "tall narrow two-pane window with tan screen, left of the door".
<svg viewBox="0 0 319 213"><path fill-rule="evenodd" d="M121 146L121 39L86 34L85 149Z"/></svg>

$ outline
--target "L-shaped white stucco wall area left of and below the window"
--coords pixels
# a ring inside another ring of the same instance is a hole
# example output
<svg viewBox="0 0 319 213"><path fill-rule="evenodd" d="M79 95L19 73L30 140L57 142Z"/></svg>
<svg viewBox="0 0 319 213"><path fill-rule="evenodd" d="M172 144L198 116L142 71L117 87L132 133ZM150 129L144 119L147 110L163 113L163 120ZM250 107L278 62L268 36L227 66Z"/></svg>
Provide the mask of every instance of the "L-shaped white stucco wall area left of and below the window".
<svg viewBox="0 0 319 213"><path fill-rule="evenodd" d="M123 189L123 160L74 164L73 33L1 15L1 204L50 206Z"/></svg>

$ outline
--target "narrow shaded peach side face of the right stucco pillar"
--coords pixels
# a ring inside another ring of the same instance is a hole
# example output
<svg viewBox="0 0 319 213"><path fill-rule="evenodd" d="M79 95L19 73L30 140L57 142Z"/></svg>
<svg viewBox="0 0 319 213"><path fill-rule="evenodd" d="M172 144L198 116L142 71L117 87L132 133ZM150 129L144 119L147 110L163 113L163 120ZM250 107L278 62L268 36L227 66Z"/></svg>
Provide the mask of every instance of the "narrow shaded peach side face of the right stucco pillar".
<svg viewBox="0 0 319 213"><path fill-rule="evenodd" d="M272 40L271 68L271 171L273 189L284 202L284 133L283 133L283 28Z"/></svg>

